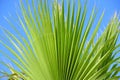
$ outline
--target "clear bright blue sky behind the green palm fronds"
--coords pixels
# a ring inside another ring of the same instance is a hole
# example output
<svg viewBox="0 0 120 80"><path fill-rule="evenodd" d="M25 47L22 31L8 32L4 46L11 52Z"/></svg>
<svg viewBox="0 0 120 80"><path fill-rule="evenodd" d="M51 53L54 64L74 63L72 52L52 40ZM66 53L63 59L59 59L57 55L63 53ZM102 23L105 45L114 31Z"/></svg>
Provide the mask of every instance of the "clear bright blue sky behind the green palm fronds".
<svg viewBox="0 0 120 80"><path fill-rule="evenodd" d="M10 28L8 23L6 23L3 16L8 17L9 20L11 20L12 17L15 18L16 17L15 12L19 11L19 9L17 8L18 2L19 0L0 0L0 25L11 31L12 29ZM105 16L102 25L100 27L101 29L103 29L103 27L107 25L108 21L113 16L115 11L117 12L120 11L120 0L89 0L88 6L90 9L93 7L93 5L96 5L96 7L99 10L99 14L102 13L103 10L105 10ZM11 14L12 17L9 17L9 14ZM1 31L0 31L0 35L2 35ZM0 49L5 50L1 45L0 45ZM0 60L1 59L5 60L5 58L2 57L2 55L0 54ZM0 69L1 68L3 67L0 65Z"/></svg>

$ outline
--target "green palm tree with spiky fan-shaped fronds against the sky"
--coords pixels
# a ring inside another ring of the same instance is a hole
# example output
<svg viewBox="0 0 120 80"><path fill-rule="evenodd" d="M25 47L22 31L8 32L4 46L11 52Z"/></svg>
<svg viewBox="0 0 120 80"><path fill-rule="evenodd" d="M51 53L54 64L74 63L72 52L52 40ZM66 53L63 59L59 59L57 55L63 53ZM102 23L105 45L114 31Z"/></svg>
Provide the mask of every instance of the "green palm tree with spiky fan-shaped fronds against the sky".
<svg viewBox="0 0 120 80"><path fill-rule="evenodd" d="M96 38L104 12L90 33L97 14L94 7L85 25L87 0L84 6L78 1L77 13L74 2L67 1L65 12L64 0L61 7L56 0L51 1L52 5L48 1L32 0L31 5L28 0L26 4L21 0L22 17L17 16L26 37L9 20L19 38L1 28L14 48L2 39L0 43L17 60L5 51L2 54L19 68L16 70L3 62L12 73L1 73L9 80L118 80L120 57L116 55L120 52L120 43L117 43L120 22L117 14Z"/></svg>

